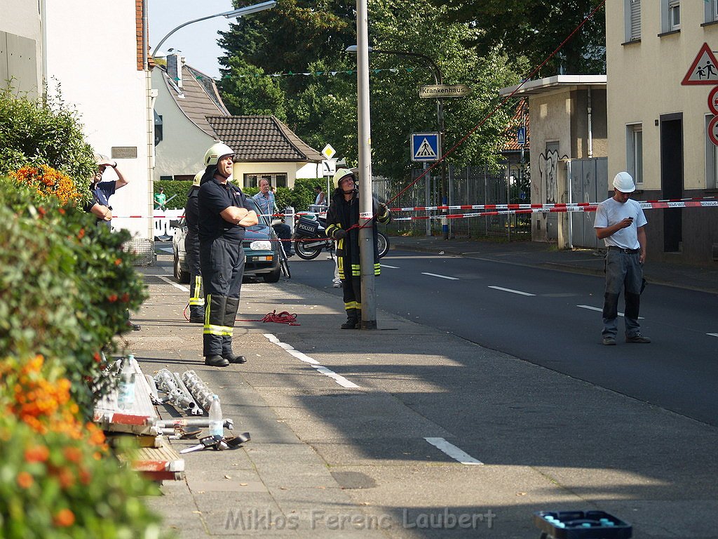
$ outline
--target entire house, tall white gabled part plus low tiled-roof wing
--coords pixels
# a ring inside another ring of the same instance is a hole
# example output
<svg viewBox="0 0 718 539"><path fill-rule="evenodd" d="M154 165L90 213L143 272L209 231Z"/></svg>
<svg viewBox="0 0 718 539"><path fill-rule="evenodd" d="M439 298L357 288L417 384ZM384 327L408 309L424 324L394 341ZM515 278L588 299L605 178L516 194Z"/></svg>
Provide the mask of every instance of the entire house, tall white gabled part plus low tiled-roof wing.
<svg viewBox="0 0 718 539"><path fill-rule="evenodd" d="M215 142L235 150L233 178L256 187L294 187L297 178L321 178L322 155L274 116L230 116L215 81L176 53L152 73L155 180L191 180L204 169L202 157Z"/></svg>

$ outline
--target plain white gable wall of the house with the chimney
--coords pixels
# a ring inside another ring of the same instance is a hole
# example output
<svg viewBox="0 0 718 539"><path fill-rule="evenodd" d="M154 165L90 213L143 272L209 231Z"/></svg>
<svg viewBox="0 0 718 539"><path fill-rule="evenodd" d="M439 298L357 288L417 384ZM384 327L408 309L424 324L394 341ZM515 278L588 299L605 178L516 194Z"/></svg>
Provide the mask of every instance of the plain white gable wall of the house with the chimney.
<svg viewBox="0 0 718 539"><path fill-rule="evenodd" d="M154 180L160 176L194 176L204 170L202 159L215 138L192 123L177 107L159 68L152 71L152 87L158 94L154 110L162 116L162 142L155 147Z"/></svg>

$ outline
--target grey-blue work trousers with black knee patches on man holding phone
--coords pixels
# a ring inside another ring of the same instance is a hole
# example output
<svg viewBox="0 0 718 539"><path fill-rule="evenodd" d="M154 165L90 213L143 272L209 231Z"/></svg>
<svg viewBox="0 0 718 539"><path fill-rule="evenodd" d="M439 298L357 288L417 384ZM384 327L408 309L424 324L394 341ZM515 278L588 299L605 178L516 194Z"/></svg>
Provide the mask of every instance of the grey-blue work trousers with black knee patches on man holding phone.
<svg viewBox="0 0 718 539"><path fill-rule="evenodd" d="M621 290L625 294L626 336L633 337L640 325L638 310L640 308L640 286L643 283L643 267L638 259L640 253L625 253L608 249L606 254L606 290L603 303L604 337L615 338L618 333L618 298Z"/></svg>

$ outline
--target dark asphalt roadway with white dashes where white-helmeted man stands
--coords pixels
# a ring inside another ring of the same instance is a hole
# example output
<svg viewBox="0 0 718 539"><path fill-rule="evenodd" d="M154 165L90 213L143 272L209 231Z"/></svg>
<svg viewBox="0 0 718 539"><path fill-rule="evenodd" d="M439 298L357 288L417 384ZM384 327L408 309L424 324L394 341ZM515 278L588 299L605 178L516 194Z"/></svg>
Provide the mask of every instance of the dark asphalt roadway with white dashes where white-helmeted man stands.
<svg viewBox="0 0 718 539"><path fill-rule="evenodd" d="M340 301L325 254L291 263L292 280ZM650 285L640 312L653 343L626 344L620 322L618 345L602 346L601 277L394 250L382 266L378 308L718 425L714 295Z"/></svg>

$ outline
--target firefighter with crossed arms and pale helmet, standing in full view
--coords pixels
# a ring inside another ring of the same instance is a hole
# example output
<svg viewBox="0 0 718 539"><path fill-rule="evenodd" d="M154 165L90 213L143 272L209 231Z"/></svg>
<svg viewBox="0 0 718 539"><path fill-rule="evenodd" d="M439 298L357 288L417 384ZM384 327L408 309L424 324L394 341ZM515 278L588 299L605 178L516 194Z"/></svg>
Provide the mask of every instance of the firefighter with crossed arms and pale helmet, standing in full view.
<svg viewBox="0 0 718 539"><path fill-rule="evenodd" d="M232 351L232 330L244 273L244 229L257 224L257 214L241 189L227 181L232 175L233 155L233 149L220 143L205 152L207 168L197 195L205 288L202 355L211 367L246 361Z"/></svg>

